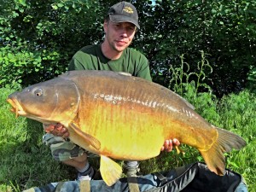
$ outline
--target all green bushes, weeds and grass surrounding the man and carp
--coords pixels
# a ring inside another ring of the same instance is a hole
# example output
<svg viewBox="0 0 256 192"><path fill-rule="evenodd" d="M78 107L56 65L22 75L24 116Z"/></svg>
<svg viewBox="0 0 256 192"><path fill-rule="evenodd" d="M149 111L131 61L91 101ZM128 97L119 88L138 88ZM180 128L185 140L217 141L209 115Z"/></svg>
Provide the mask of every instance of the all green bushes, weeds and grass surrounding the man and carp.
<svg viewBox="0 0 256 192"><path fill-rule="evenodd" d="M0 191L76 177L72 168L52 160L41 125L15 119L5 100L28 84L64 73L78 49L101 42L104 15L117 2L0 0ZM246 148L228 155L227 166L256 191L256 2L131 3L142 26L131 46L148 57L154 82L185 97L213 125L247 140ZM162 153L143 161L142 172L202 160L194 148L183 148L184 156Z"/></svg>

